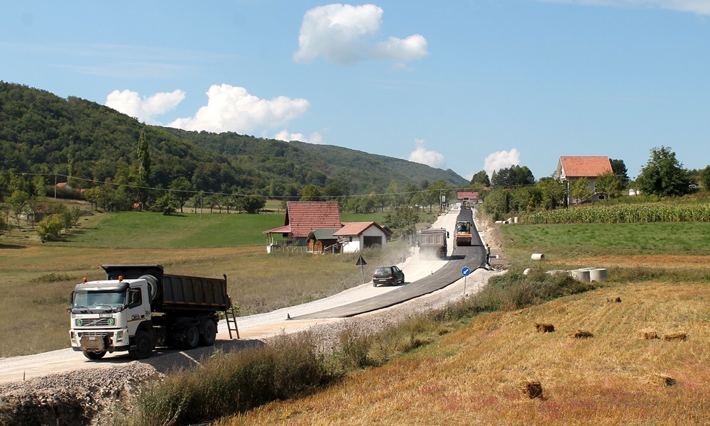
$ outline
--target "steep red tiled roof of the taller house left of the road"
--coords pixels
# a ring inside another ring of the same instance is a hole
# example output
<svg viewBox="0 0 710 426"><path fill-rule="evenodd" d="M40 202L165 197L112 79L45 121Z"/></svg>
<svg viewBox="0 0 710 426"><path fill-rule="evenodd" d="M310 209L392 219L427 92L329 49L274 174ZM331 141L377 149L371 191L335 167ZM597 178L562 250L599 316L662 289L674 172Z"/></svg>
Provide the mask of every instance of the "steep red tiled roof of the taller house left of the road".
<svg viewBox="0 0 710 426"><path fill-rule="evenodd" d="M284 225L291 226L291 235L307 237L319 228L340 228L340 211L337 202L289 201L286 203Z"/></svg>

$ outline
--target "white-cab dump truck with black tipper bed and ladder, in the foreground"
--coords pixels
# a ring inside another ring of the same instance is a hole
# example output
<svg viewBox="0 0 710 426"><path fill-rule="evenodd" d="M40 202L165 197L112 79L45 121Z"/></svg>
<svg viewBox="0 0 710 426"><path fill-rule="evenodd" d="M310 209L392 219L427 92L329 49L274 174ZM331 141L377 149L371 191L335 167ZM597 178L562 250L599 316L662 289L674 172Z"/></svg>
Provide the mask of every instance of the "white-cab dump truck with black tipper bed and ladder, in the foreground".
<svg viewBox="0 0 710 426"><path fill-rule="evenodd" d="M212 346L217 312L231 301L224 278L172 275L160 265L102 265L106 280L76 285L71 293L72 349L88 359L128 351L134 359L157 346Z"/></svg>

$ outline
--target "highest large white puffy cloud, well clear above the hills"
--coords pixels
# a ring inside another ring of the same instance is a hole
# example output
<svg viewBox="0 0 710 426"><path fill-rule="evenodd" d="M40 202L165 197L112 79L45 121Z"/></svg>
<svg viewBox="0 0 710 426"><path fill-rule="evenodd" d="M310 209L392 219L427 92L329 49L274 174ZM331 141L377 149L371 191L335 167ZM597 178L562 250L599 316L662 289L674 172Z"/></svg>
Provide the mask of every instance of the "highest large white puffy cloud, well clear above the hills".
<svg viewBox="0 0 710 426"><path fill-rule="evenodd" d="M427 40L419 34L368 43L380 31L382 13L374 4L328 4L310 9L303 16L299 49L293 59L311 62L322 56L328 62L351 65L373 59L402 63L429 54Z"/></svg>

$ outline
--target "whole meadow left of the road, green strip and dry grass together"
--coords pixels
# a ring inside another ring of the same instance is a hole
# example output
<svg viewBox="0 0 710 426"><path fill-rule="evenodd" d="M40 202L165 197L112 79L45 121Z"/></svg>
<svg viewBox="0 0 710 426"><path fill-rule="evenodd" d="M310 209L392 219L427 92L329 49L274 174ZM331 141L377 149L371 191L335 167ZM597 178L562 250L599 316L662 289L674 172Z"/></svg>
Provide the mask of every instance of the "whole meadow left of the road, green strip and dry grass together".
<svg viewBox="0 0 710 426"><path fill-rule="evenodd" d="M381 215L343 214L342 219L380 221ZM30 228L12 229L0 236L0 356L67 347L69 293L84 277L105 278L101 265L107 263L158 263L185 275L226 274L240 315L361 284L356 255L268 255L262 231L283 225L283 220L283 213L95 214L83 218L62 241L45 244ZM389 251L367 251L367 268L393 263L400 249L395 243Z"/></svg>

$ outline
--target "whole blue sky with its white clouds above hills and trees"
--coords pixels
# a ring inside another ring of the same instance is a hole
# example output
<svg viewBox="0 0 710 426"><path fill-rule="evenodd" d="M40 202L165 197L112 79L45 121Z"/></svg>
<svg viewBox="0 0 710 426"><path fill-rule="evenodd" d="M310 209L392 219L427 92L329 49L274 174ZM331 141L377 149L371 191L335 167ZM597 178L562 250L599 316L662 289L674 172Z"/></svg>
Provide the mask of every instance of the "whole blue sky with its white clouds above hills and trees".
<svg viewBox="0 0 710 426"><path fill-rule="evenodd" d="M0 80L470 178L710 163L710 0L13 1Z"/></svg>

